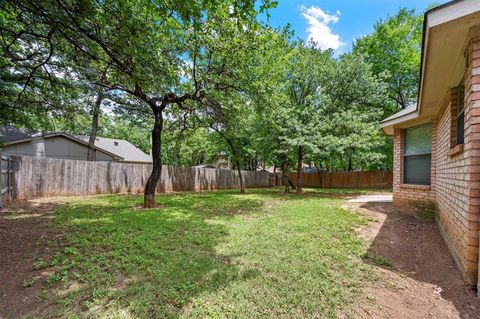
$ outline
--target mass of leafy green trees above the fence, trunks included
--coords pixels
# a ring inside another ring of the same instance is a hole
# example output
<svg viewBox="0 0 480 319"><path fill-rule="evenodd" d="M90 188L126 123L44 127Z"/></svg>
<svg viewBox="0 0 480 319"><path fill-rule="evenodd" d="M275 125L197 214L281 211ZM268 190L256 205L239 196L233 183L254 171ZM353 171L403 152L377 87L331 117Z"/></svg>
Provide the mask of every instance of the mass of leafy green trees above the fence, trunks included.
<svg viewBox="0 0 480 319"><path fill-rule="evenodd" d="M267 166L390 168L378 124L415 101L422 17L399 10L338 55L260 22L275 5L1 2L0 124L133 142L153 157L146 207L162 164L220 154L241 183Z"/></svg>

